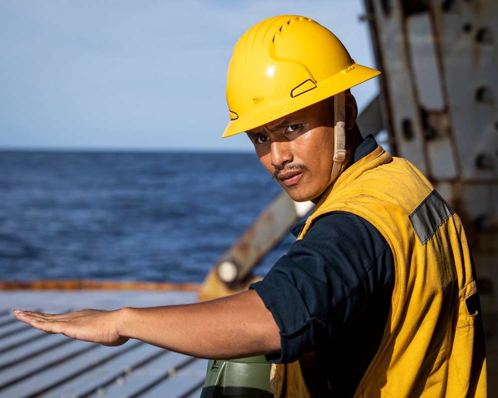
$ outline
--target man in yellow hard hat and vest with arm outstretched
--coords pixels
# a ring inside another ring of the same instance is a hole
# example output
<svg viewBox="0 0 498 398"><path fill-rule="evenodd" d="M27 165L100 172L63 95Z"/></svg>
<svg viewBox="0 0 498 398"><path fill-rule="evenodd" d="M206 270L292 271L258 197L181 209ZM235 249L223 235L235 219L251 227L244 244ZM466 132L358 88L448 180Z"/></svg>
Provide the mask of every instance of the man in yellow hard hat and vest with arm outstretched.
<svg viewBox="0 0 498 398"><path fill-rule="evenodd" d="M289 196L316 203L288 254L249 291L190 305L14 315L105 345L136 338L204 358L265 354L278 364L277 397L486 396L460 220L411 164L356 125L349 89L377 74L300 16L264 20L237 43L223 136L247 132Z"/></svg>

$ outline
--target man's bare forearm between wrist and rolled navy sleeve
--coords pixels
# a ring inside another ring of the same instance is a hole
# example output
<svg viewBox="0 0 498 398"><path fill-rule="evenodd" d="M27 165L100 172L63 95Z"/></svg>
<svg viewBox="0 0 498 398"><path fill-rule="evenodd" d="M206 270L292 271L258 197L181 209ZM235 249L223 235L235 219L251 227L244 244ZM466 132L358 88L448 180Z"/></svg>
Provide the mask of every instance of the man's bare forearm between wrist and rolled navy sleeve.
<svg viewBox="0 0 498 398"><path fill-rule="evenodd" d="M278 352L280 336L255 291L188 305L124 308L118 332L201 358L241 358Z"/></svg>

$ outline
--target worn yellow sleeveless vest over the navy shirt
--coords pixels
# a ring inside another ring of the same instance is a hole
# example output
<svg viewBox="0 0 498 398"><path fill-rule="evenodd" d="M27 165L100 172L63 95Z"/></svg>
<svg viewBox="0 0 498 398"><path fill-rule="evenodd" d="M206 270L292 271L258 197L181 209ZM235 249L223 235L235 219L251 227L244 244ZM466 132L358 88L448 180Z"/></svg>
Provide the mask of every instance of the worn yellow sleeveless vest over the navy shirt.
<svg viewBox="0 0 498 398"><path fill-rule="evenodd" d="M476 275L457 214L413 165L380 146L328 188L298 239L317 217L339 210L378 229L395 267L389 320L355 397L486 397ZM301 367L282 365L276 392L302 397ZM313 397L308 387L304 396Z"/></svg>

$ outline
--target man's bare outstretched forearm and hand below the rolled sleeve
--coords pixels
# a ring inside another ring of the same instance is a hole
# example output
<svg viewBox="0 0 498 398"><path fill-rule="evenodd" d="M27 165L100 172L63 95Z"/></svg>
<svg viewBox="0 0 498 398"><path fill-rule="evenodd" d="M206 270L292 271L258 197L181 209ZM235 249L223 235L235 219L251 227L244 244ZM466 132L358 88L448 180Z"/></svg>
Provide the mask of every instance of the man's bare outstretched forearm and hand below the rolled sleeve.
<svg viewBox="0 0 498 398"><path fill-rule="evenodd" d="M185 305L84 309L51 315L14 310L20 321L104 345L138 339L199 358L233 359L280 351L278 327L254 290Z"/></svg>

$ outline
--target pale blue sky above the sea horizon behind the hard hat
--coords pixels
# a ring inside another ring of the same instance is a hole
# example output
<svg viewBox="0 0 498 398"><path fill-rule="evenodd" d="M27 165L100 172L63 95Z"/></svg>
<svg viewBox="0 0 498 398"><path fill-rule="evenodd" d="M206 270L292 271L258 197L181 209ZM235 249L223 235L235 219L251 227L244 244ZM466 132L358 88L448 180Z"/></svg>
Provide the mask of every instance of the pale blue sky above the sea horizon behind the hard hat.
<svg viewBox="0 0 498 398"><path fill-rule="evenodd" d="M300 14L375 67L363 0L3 0L0 150L250 151L229 120L226 71L253 24ZM362 109L375 79L353 90Z"/></svg>

